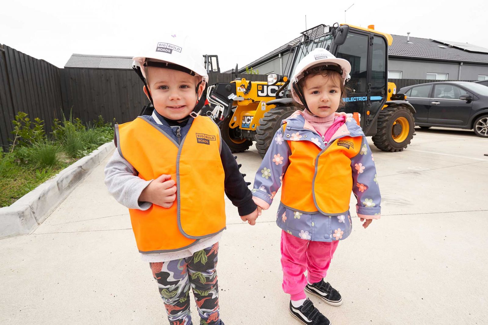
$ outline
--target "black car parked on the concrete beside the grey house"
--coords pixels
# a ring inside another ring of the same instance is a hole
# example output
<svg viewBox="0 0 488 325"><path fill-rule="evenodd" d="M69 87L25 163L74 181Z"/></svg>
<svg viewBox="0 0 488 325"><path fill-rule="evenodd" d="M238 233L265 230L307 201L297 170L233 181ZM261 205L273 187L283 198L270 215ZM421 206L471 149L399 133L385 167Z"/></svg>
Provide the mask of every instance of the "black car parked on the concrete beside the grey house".
<svg viewBox="0 0 488 325"><path fill-rule="evenodd" d="M488 87L468 81L430 82L400 89L417 111L415 125L473 129L488 137Z"/></svg>

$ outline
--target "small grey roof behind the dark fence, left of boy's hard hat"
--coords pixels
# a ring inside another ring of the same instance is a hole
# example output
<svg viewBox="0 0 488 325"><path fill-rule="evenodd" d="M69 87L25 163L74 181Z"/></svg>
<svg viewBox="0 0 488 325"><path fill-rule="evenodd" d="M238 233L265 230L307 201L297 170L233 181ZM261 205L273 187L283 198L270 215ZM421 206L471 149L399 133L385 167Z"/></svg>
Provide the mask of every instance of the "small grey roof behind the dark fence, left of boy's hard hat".
<svg viewBox="0 0 488 325"><path fill-rule="evenodd" d="M132 69L132 57L73 54L65 68Z"/></svg>

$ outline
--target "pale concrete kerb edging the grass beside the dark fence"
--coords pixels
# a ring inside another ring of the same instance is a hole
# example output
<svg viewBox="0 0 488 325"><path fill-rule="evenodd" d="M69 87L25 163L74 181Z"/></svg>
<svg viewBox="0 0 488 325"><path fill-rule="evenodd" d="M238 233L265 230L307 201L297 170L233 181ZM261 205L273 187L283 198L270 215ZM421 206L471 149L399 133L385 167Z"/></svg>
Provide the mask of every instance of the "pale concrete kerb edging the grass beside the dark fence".
<svg viewBox="0 0 488 325"><path fill-rule="evenodd" d="M114 148L113 142L103 144L9 207L0 208L0 238L34 231Z"/></svg>

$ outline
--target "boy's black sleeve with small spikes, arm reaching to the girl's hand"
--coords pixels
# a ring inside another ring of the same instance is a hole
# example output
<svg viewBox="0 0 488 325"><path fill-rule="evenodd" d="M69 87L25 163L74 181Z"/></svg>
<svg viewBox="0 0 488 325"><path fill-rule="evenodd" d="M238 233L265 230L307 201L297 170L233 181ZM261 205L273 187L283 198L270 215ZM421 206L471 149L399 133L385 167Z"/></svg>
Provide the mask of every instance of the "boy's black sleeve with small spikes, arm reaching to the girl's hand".
<svg viewBox="0 0 488 325"><path fill-rule="evenodd" d="M222 166L224 166L225 195L233 205L237 207L239 215L247 215L256 210L256 204L252 200L252 193L247 188L243 174L239 171L237 161L230 152L229 147L222 141L222 151L220 153Z"/></svg>

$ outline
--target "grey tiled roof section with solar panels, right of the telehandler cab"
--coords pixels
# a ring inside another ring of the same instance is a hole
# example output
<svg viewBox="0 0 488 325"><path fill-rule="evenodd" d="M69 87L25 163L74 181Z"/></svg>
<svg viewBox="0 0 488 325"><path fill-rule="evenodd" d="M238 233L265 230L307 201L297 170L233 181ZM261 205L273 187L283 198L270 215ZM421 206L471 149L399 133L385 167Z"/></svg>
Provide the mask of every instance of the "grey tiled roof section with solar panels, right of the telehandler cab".
<svg viewBox="0 0 488 325"><path fill-rule="evenodd" d="M390 57L413 57L455 62L488 63L488 53L475 53L458 48L460 47L459 44L463 43L416 37L410 37L410 42L407 42L407 36L391 36L393 37L393 43L388 48L388 55ZM439 45L441 47L439 47ZM464 45L467 48L476 49L477 51L483 50L483 48L479 46L468 43L464 43ZM487 49L484 50L488 52Z"/></svg>

